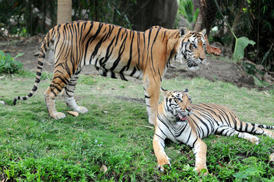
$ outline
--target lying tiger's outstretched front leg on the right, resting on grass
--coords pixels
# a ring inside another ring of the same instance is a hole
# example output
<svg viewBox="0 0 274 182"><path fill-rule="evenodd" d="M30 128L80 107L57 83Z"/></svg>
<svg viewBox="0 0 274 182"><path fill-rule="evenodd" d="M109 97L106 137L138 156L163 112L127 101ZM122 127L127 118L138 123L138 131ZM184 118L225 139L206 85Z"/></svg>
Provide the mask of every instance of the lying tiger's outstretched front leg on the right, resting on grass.
<svg viewBox="0 0 274 182"><path fill-rule="evenodd" d="M207 146L200 138L198 138L197 142L195 142L193 151L196 157L194 170L200 174L202 169L206 169L206 172L204 172L203 175L208 174L208 168L206 167Z"/></svg>

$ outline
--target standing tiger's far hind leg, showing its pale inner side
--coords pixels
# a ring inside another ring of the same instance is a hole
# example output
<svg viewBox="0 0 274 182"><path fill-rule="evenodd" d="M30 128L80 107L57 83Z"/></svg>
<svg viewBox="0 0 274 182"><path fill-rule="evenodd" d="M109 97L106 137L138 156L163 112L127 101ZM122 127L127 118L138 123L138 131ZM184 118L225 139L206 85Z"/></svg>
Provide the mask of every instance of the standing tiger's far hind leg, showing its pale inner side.
<svg viewBox="0 0 274 182"><path fill-rule="evenodd" d="M78 70L73 77L66 84L64 90L62 90L62 97L66 103L66 105L72 109L74 112L86 113L88 109L86 107L78 106L74 99L74 90L76 88L77 79L79 78L79 73L81 70Z"/></svg>

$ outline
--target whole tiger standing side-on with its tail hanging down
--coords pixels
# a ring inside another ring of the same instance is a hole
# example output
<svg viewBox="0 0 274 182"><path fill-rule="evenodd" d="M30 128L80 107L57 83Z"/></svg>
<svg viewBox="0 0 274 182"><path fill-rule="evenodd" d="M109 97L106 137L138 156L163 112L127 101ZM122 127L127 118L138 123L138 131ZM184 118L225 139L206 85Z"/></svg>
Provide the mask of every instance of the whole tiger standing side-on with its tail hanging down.
<svg viewBox="0 0 274 182"><path fill-rule="evenodd" d="M92 64L105 77L140 82L145 90L149 123L155 125L160 84L166 68L174 60L186 60L188 68L206 64L206 30L199 33L186 27L165 29L154 26L145 32L132 31L117 25L95 21L75 21L56 25L49 30L40 47L36 81L26 100L36 92L47 49L54 52L55 69L49 88L45 91L45 103L49 116L66 117L55 109L55 97L64 89L66 105L75 112L86 113L86 107L78 106L74 90L82 66Z"/></svg>

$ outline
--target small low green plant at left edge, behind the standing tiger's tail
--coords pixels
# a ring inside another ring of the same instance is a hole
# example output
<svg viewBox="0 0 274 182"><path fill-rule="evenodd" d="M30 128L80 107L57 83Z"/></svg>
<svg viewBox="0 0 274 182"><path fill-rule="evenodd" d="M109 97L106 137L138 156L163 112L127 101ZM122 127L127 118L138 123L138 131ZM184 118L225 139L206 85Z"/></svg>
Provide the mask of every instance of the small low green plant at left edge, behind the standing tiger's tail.
<svg viewBox="0 0 274 182"><path fill-rule="evenodd" d="M18 53L18 55L12 57L9 53L5 55L3 51L0 51L0 74L18 73L18 70L22 68L23 64L15 59L21 55L23 55L23 53Z"/></svg>

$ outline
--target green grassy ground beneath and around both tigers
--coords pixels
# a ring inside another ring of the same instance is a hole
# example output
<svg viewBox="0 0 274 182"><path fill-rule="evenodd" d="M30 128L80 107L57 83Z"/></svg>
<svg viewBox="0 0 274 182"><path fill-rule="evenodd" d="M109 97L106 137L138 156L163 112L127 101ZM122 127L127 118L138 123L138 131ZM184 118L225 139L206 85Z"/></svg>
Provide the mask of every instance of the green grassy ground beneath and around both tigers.
<svg viewBox="0 0 274 182"><path fill-rule="evenodd" d="M44 73L43 73L44 74ZM49 86L44 74L38 92L18 101L32 89L29 72L0 79L0 180L11 181L273 181L273 139L258 136L258 146L212 135L208 145L207 177L193 172L191 148L167 142L172 159L165 172L156 168L153 129L149 125L142 86L119 79L80 77L75 99L89 109L78 117L49 118L43 92ZM230 107L244 121L273 125L274 91L237 88L230 83L206 79L166 80L163 88L188 88L192 103L212 102ZM62 98L56 107L66 112Z"/></svg>

